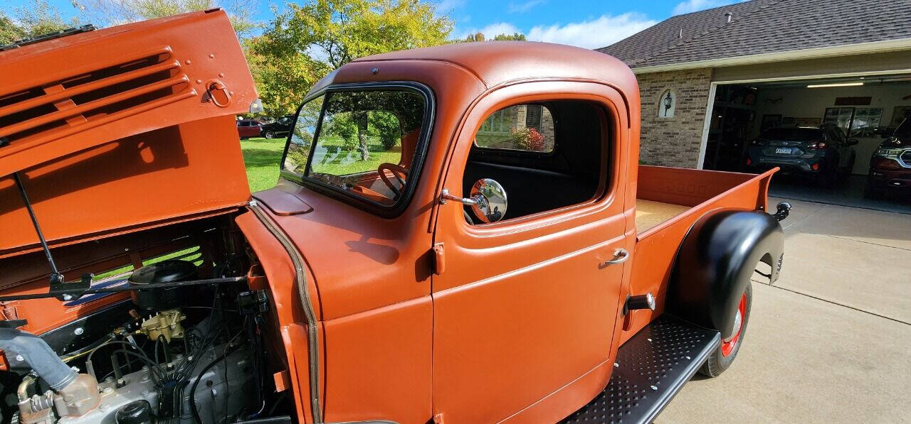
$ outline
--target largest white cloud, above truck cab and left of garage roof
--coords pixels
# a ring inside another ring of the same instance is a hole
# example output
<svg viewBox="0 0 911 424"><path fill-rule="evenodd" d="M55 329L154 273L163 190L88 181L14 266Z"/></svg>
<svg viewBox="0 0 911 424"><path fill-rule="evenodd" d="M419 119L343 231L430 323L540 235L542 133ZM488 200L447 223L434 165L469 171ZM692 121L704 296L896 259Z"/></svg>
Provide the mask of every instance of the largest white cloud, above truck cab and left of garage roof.
<svg viewBox="0 0 911 424"><path fill-rule="evenodd" d="M527 38L530 41L598 48L612 45L657 23L645 15L631 12L616 16L601 15L597 19L567 25L537 25L531 28Z"/></svg>

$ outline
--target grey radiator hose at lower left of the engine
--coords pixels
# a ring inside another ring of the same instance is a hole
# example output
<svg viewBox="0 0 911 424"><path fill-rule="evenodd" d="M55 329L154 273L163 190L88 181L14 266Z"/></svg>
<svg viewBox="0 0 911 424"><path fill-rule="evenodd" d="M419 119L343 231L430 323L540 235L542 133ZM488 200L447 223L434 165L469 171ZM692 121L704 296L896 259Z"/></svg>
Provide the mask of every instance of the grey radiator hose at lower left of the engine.
<svg viewBox="0 0 911 424"><path fill-rule="evenodd" d="M67 367L45 340L15 328L0 328L0 350L7 356L21 355L54 391L60 391L77 378L77 372Z"/></svg>

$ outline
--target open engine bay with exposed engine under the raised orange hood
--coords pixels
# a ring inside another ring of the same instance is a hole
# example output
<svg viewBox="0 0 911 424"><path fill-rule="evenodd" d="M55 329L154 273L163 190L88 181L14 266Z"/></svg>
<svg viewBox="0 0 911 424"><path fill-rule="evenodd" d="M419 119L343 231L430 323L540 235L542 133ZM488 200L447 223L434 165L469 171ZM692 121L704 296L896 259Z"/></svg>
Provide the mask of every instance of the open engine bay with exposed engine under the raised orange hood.
<svg viewBox="0 0 911 424"><path fill-rule="evenodd" d="M272 379L282 358L267 357L269 292L247 284L256 257L233 215L56 249L67 277L88 271L91 288L111 292L0 302L3 422L290 421L292 402ZM0 258L0 272L14 262L40 263ZM34 274L0 294L47 276ZM57 324L37 335L15 328L48 319Z"/></svg>

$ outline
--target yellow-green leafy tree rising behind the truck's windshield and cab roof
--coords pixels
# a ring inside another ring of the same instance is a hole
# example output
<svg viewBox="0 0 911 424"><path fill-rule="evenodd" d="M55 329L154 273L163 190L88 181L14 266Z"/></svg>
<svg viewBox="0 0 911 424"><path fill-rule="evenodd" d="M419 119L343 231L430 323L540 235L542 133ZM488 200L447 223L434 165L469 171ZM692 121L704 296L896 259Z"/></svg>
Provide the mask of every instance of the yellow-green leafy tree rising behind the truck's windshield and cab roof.
<svg viewBox="0 0 911 424"><path fill-rule="evenodd" d="M271 115L293 110L320 76L355 58L442 45L452 32L452 22L422 0L308 0L287 6L248 44L248 62ZM357 119L363 160L369 157L366 124L365 116Z"/></svg>

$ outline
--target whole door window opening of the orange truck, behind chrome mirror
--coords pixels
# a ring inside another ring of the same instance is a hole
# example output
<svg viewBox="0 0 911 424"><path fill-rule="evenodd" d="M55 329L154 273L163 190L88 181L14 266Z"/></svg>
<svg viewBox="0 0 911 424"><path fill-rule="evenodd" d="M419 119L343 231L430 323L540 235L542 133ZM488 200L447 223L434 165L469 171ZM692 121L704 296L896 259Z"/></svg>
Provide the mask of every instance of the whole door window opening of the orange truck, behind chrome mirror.
<svg viewBox="0 0 911 424"><path fill-rule="evenodd" d="M496 181L506 192L507 205L495 218L504 220L600 197L610 168L607 125L604 108L585 101L497 110L476 133L462 195L471 197L473 187ZM485 222L476 208L466 207L465 212L470 224Z"/></svg>

